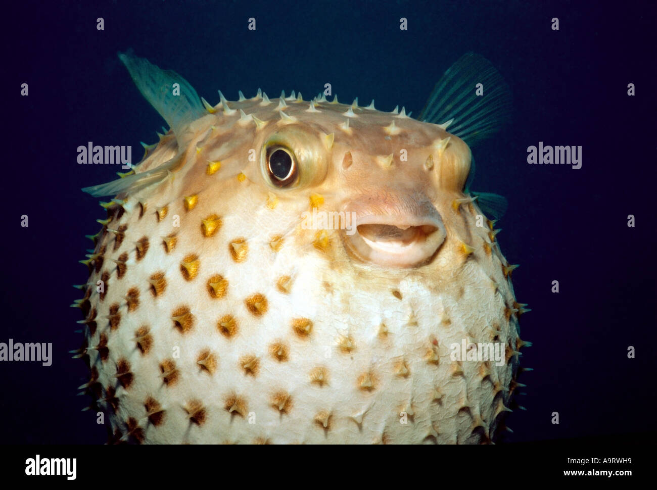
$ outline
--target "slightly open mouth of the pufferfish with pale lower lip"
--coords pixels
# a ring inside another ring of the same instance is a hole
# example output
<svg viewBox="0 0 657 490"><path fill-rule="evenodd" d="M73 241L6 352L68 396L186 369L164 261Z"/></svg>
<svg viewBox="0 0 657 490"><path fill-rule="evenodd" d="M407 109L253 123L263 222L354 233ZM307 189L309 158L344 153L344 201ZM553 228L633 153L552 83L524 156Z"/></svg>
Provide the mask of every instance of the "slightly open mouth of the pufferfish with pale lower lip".
<svg viewBox="0 0 657 490"><path fill-rule="evenodd" d="M433 207L432 207L433 208ZM445 226L434 209L429 215L366 214L354 219L346 244L355 256L386 267L417 267L445 241Z"/></svg>

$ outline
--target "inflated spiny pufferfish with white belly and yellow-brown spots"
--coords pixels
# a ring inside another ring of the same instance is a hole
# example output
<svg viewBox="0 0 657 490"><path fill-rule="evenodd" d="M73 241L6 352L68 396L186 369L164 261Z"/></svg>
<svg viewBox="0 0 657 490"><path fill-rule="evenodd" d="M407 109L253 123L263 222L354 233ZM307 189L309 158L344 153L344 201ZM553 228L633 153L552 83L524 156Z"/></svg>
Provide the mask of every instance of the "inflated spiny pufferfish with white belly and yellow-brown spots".
<svg viewBox="0 0 657 490"><path fill-rule="evenodd" d="M494 441L528 344L482 211L501 200L468 183L509 113L497 70L463 56L415 120L323 93L212 106L119 56L171 129L84 189L114 196L75 303L110 441Z"/></svg>

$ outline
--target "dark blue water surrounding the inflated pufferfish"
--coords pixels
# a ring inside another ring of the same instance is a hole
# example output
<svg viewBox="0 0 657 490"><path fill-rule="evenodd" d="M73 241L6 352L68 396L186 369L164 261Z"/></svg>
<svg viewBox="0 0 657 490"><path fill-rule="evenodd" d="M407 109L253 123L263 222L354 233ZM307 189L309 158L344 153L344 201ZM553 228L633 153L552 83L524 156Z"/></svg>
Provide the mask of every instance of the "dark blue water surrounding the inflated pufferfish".
<svg viewBox="0 0 657 490"><path fill-rule="evenodd" d="M78 263L105 217L82 187L120 166L80 166L76 148L155 143L164 121L117 51L173 69L211 104L221 89L281 90L311 99L331 83L341 102L418 116L461 55L486 56L509 83L512 122L472 148L472 189L509 200L501 250L519 263L513 285L521 374L504 441L613 438L654 430L656 145L654 3L625 1L114 1L5 9L9 106L2 171L0 342L52 342L53 364L0 363L0 443L104 443L76 395L87 381L71 359L82 336L70 308ZM97 30L97 18L104 30ZM248 30L248 18L256 30ZM558 18L559 30L552 29ZM400 30L400 19L407 30ZM28 83L29 95L20 95ZM627 94L635 85L636 95ZM528 146L582 146L582 166L534 166ZM29 226L21 227L22 215ZM635 227L628 227L628 215ZM558 280L559 292L552 282ZM627 349L636 349L629 359ZM553 424L553 412L559 424Z"/></svg>

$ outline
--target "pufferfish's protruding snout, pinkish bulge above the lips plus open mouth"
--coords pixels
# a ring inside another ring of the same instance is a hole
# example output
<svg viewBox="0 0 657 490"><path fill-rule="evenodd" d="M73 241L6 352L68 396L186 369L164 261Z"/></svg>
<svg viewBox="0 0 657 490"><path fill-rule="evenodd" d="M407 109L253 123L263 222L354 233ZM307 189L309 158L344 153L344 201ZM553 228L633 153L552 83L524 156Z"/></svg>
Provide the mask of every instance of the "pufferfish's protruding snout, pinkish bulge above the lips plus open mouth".
<svg viewBox="0 0 657 490"><path fill-rule="evenodd" d="M429 261L447 233L440 213L415 198L369 199L345 206L351 228L344 233L347 249L365 262L384 267L417 267Z"/></svg>

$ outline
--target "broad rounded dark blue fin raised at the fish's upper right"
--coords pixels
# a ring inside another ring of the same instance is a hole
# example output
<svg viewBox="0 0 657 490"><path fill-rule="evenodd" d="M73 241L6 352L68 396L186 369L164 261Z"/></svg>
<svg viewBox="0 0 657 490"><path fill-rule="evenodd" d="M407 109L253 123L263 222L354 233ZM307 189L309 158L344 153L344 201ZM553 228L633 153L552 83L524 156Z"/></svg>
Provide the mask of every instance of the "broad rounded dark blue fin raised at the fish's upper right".
<svg viewBox="0 0 657 490"><path fill-rule="evenodd" d="M477 84L484 95L476 95ZM447 131L468 145L485 139L507 122L511 92L484 56L466 53L436 83L418 120L434 124L451 119Z"/></svg>

